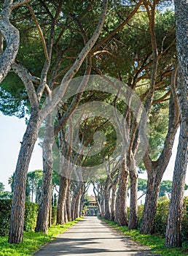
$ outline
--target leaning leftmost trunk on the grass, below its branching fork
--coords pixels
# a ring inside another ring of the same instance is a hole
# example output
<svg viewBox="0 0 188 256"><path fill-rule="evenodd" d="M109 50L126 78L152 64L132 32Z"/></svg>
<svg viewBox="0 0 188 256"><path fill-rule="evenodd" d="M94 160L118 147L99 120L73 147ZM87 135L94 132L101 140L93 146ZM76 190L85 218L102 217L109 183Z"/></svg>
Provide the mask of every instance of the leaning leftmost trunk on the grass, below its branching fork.
<svg viewBox="0 0 188 256"><path fill-rule="evenodd" d="M9 243L18 244L23 241L23 222L26 200L26 177L31 154L37 140L40 127L39 112L32 111L28 126L23 135L20 154L15 170L14 193L12 197L12 214L10 218Z"/></svg>

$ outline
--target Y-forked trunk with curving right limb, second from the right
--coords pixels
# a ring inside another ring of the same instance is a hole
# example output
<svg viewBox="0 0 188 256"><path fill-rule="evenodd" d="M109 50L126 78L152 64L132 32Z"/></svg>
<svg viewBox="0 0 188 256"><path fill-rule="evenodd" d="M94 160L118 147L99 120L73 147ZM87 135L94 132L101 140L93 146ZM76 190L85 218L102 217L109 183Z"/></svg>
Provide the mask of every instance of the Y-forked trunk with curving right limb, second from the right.
<svg viewBox="0 0 188 256"><path fill-rule="evenodd" d="M173 87L176 84L176 71L173 73ZM175 92L175 91L174 91ZM160 182L165 173L168 162L171 159L173 141L179 127L179 110L176 109L176 95L171 94L169 102L169 122L168 133L165 138L164 148L157 161L152 161L149 152L144 156L144 165L148 173L148 182L146 190L146 200L144 205L144 214L141 222L141 233L154 233L154 217L157 209L157 197L159 195Z"/></svg>

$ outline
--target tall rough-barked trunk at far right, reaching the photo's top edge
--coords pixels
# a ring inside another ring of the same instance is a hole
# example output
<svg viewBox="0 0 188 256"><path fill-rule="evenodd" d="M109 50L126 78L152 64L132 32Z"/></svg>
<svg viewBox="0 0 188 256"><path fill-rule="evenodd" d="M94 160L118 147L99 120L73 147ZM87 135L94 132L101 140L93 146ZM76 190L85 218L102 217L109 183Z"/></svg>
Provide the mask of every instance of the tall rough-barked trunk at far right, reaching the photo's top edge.
<svg viewBox="0 0 188 256"><path fill-rule="evenodd" d="M178 97L180 108L180 135L173 173L173 189L168 213L165 246L181 246L181 215L184 197L184 183L187 170L188 145L188 3L186 0L175 0L174 3L176 11L176 42L179 59Z"/></svg>

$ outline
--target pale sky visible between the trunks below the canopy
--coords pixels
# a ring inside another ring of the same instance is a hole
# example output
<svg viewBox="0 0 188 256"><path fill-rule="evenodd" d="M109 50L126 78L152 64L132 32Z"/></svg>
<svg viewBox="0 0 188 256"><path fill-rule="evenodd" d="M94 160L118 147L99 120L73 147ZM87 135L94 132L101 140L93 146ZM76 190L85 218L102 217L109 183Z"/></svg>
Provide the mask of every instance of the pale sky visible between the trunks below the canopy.
<svg viewBox="0 0 188 256"><path fill-rule="evenodd" d="M26 130L26 124L24 118L19 119L15 116L4 116L1 112L0 124L0 181L3 182L6 190L9 191L8 178L15 171L21 145L20 141L22 141L23 134ZM178 136L176 136L171 162L165 171L163 180L172 180L173 178L173 166L176 159L177 145ZM28 171L40 169L42 169L42 148L36 143ZM139 175L139 177L146 178L146 173ZM186 178L186 183L188 184L188 177ZM188 195L188 192L186 192L186 195Z"/></svg>

